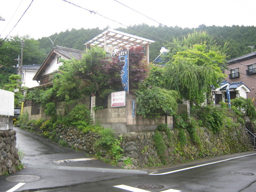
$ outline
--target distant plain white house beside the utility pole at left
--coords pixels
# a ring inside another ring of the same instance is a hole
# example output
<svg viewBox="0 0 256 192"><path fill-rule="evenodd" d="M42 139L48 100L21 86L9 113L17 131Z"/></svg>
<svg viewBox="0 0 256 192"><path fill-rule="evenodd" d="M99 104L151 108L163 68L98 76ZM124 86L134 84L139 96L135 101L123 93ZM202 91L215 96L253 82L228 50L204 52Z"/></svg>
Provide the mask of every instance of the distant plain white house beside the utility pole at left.
<svg viewBox="0 0 256 192"><path fill-rule="evenodd" d="M25 86L28 88L36 87L39 85L37 81L33 80L34 75L38 71L41 65L24 65L22 68L19 68L18 74L22 76L22 84L21 86Z"/></svg>

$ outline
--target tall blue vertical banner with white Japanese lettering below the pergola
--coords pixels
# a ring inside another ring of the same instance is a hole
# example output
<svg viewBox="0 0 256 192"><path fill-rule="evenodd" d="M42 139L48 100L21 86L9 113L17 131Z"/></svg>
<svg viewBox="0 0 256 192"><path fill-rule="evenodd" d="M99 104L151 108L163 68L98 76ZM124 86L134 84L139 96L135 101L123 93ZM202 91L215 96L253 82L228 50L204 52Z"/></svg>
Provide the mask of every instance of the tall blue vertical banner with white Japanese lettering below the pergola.
<svg viewBox="0 0 256 192"><path fill-rule="evenodd" d="M119 56L119 65L122 65L122 70L121 70L121 79L122 79L122 86L124 88L124 91L129 91L129 66L128 66L128 49L124 49L118 52Z"/></svg>

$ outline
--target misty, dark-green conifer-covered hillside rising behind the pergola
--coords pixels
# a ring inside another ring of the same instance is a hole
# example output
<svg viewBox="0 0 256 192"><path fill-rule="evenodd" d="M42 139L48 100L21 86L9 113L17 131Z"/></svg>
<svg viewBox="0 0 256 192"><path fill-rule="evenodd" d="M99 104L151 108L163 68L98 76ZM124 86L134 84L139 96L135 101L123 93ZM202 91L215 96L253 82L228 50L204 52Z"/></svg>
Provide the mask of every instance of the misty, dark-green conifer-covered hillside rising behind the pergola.
<svg viewBox="0 0 256 192"><path fill-rule="evenodd" d="M104 29L106 30L106 29ZM84 44L103 32L99 28L94 29L72 29L66 30L59 34L53 34L50 39L54 42L54 46L65 46L83 50ZM228 58L236 58L251 52L251 48L247 46L256 45L256 27L255 26L205 26L200 25L198 28L180 28L180 27L164 27L164 26L148 26L140 24L131 26L130 28L116 28L116 30L133 34L136 36L155 40L150 45L150 61L153 61L159 54L161 47L171 46L173 38L181 39L182 35L187 36L188 33L196 31L206 31L210 36L214 37L216 43L224 46L228 42L227 55ZM182 34L182 35L181 35ZM52 49L52 42L48 37L38 39L40 48L46 50ZM54 41L55 40L55 41Z"/></svg>

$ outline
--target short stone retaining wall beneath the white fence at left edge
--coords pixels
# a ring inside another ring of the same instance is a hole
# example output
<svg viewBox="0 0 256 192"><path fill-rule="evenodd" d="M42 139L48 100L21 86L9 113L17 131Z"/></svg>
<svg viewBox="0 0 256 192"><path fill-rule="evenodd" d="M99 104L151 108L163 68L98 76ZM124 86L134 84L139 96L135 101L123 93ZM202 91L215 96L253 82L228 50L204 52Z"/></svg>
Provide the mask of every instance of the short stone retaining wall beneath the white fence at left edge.
<svg viewBox="0 0 256 192"><path fill-rule="evenodd" d="M12 174L19 166L18 149L16 148L16 131L0 131L0 175Z"/></svg>

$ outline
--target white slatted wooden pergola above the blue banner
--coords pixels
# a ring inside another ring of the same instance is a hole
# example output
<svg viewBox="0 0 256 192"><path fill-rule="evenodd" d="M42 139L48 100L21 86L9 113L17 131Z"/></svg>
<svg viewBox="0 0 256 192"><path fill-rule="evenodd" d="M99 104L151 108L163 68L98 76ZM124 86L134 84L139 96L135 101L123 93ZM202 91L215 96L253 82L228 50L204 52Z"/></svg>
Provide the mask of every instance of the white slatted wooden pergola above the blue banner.
<svg viewBox="0 0 256 192"><path fill-rule="evenodd" d="M129 48L132 46L144 46L146 47L146 58L149 63L149 44L155 41L145 39L139 36L131 35L128 33L120 32L113 29L108 29L92 40L88 41L86 49L90 46L99 46L111 54L116 54L115 49Z"/></svg>

